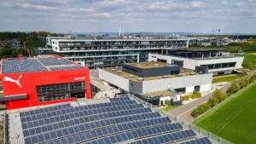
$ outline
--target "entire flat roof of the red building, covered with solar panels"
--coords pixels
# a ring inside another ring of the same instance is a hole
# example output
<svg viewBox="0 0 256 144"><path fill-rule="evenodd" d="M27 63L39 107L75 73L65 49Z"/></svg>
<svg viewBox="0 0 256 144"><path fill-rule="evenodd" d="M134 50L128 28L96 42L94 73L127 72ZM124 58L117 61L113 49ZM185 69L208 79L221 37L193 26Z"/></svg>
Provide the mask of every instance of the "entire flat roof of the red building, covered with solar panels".
<svg viewBox="0 0 256 144"><path fill-rule="evenodd" d="M28 58L24 60L2 60L2 74L25 73L25 72L47 72L60 70L73 70L85 68L70 60L60 57L53 58Z"/></svg>

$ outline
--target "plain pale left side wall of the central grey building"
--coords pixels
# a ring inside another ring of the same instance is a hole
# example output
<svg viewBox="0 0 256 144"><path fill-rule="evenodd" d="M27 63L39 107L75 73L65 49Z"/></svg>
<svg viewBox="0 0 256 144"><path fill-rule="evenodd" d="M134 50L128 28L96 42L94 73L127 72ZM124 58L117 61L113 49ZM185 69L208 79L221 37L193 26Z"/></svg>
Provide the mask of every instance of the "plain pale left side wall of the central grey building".
<svg viewBox="0 0 256 144"><path fill-rule="evenodd" d="M99 69L99 78L110 84L118 86L121 89L129 91L129 79L119 77L118 75L102 69Z"/></svg>

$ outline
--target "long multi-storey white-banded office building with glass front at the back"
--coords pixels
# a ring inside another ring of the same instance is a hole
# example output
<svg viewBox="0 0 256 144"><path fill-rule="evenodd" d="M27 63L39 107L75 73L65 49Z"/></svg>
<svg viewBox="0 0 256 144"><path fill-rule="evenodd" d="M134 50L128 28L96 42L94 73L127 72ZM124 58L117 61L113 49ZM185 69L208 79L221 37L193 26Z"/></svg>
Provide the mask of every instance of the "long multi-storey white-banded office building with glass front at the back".
<svg viewBox="0 0 256 144"><path fill-rule="evenodd" d="M126 37L126 36L125 36ZM47 37L47 45L58 55L90 69L122 66L124 63L148 61L149 53L160 49L188 48L188 39L124 37Z"/></svg>

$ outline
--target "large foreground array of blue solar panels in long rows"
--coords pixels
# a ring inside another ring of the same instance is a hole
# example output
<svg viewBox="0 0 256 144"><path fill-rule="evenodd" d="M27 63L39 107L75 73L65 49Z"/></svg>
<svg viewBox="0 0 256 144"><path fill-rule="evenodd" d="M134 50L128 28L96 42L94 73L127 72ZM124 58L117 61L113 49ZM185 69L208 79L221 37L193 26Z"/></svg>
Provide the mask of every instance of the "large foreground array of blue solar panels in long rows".
<svg viewBox="0 0 256 144"><path fill-rule="evenodd" d="M25 143L167 143L195 138L193 130L183 130L181 124L129 97L110 101L20 112Z"/></svg>

